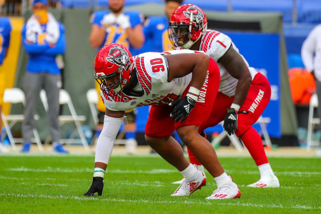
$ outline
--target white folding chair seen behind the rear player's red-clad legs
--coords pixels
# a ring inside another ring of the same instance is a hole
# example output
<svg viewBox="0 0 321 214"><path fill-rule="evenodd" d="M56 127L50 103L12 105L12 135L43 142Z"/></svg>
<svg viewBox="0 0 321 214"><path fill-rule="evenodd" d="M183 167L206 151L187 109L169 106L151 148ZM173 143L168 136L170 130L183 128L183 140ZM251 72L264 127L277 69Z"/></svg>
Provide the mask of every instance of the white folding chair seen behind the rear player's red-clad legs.
<svg viewBox="0 0 321 214"><path fill-rule="evenodd" d="M259 119L255 122L255 124L259 124L261 126L261 131L263 136L264 136L264 141L263 144L272 147L272 143L270 140L270 137L267 132L267 124L271 122L271 119L269 117L262 117L260 116ZM219 123L223 127L223 121ZM211 142L213 146L215 146L217 143L221 142L226 136L230 139L231 143L233 146L236 148L238 151L243 150L243 146L240 143L239 139L236 137L235 134L233 135L228 135L226 131L222 131L217 137L214 138L214 140ZM242 142L243 143L243 142Z"/></svg>

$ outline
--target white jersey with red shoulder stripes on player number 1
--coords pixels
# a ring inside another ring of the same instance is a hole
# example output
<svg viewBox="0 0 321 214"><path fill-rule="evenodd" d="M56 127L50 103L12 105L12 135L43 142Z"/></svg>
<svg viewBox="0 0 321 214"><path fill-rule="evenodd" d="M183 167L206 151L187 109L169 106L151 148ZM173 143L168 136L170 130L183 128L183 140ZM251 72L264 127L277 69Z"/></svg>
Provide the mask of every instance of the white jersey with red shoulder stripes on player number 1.
<svg viewBox="0 0 321 214"><path fill-rule="evenodd" d="M219 60L229 50L231 45L234 50L239 53L231 38L218 31L207 30L201 39L199 50L210 55L215 62L217 62L217 60ZM240 55L242 56L242 54ZM246 59L243 56L242 58L245 64L249 67L249 63ZM221 74L221 82L218 90L230 97L234 96L238 80L232 77L221 63L217 62L217 65ZM249 67L249 71L253 80L257 71L252 67Z"/></svg>

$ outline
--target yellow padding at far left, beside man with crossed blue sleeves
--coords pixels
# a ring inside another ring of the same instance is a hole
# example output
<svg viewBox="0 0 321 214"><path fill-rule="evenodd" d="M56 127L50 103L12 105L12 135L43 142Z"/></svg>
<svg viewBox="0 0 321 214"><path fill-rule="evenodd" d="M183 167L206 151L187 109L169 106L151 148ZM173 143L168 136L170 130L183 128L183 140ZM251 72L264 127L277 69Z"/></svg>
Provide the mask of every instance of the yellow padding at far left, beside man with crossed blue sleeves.
<svg viewBox="0 0 321 214"><path fill-rule="evenodd" d="M12 27L10 46L8 50L8 55L4 59L2 65L5 78L5 88L13 88L15 84L16 70L21 45L21 30L24 20L20 17L11 17L10 23ZM2 110L4 114L9 114L10 104L3 104Z"/></svg>

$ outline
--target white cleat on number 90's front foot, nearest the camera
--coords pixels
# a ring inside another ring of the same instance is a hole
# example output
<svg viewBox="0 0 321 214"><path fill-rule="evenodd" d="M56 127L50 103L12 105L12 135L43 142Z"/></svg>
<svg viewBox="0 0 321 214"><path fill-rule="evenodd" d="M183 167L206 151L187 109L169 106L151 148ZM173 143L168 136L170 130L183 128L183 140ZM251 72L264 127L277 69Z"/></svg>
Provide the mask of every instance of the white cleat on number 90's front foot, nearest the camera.
<svg viewBox="0 0 321 214"><path fill-rule="evenodd" d="M211 196L206 197L208 200L240 198L241 192L237 185L232 181L218 187Z"/></svg>

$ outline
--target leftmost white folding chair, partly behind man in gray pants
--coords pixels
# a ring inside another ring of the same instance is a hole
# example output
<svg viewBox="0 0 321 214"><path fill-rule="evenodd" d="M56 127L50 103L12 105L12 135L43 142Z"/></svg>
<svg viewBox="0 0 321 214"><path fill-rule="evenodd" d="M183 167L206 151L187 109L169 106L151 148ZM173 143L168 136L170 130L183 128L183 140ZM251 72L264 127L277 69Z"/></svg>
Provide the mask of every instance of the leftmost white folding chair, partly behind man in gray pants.
<svg viewBox="0 0 321 214"><path fill-rule="evenodd" d="M3 103L13 103L18 104L22 103L25 104L25 96L21 89L18 88L12 88L12 89L5 89L3 94ZM11 128L18 122L22 122L24 120L23 114L9 114L4 115L4 113L1 111L1 119L5 128L6 135L8 135L10 144L13 148L13 150L16 150L16 141L17 142L23 142L21 138L14 138L11 133ZM35 120L38 120L39 116L35 115ZM43 151L41 141L39 138L39 134L36 128L33 129L34 137L35 139L31 139L34 143L37 143L37 146L40 151ZM2 135L3 138L5 135Z"/></svg>

